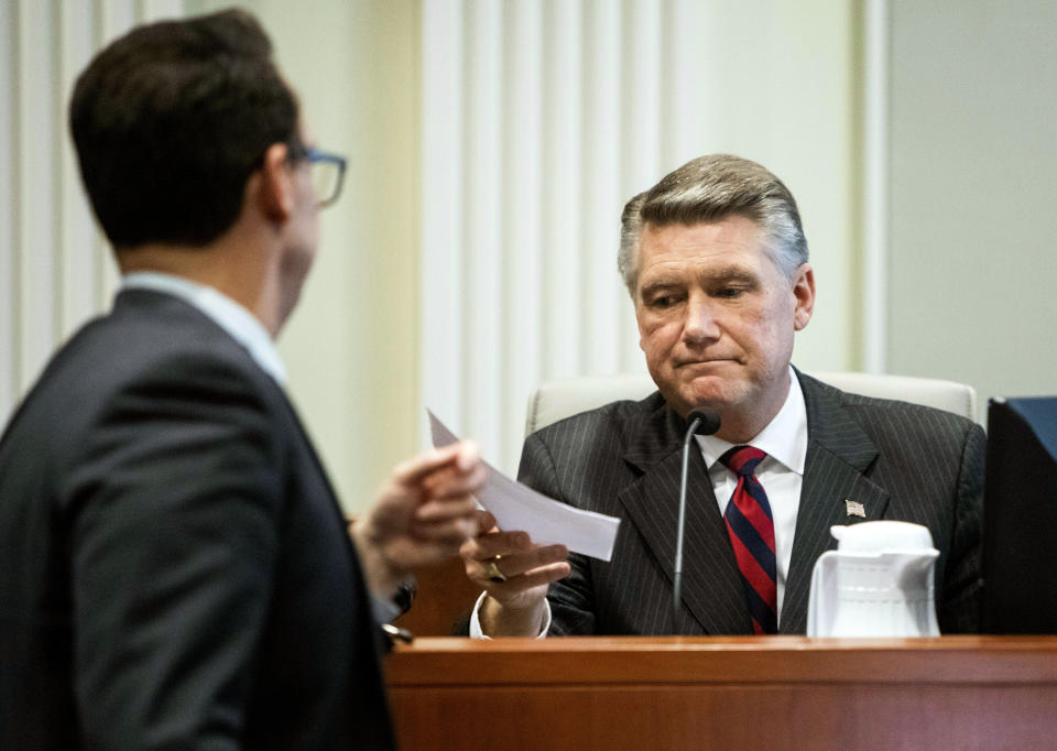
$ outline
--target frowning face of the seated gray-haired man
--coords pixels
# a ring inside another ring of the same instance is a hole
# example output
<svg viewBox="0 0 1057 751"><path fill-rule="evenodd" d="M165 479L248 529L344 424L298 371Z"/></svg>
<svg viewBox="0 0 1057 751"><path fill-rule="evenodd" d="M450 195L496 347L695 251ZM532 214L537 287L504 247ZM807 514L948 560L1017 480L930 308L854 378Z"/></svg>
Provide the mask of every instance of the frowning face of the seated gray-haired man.
<svg viewBox="0 0 1057 751"><path fill-rule="evenodd" d="M748 440L777 414L793 335L815 301L811 268L787 277L765 241L754 221L730 216L646 225L639 246L635 317L650 374L679 414L718 410L729 440Z"/></svg>

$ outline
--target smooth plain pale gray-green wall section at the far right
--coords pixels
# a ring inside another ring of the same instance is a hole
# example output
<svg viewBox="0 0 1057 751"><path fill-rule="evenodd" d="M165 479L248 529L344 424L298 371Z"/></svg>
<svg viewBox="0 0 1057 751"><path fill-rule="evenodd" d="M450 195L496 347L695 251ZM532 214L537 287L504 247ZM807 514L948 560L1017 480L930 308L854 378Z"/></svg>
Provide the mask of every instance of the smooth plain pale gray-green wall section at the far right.
<svg viewBox="0 0 1057 751"><path fill-rule="evenodd" d="M890 369L1057 392L1057 4L892 0Z"/></svg>

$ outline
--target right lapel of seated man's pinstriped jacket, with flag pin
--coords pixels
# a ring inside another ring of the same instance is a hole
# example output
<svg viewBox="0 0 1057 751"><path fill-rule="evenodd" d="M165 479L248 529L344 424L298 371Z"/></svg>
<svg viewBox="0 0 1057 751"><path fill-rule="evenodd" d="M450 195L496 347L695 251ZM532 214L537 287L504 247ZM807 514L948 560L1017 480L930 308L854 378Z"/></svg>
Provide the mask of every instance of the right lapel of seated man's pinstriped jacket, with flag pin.
<svg viewBox="0 0 1057 751"><path fill-rule="evenodd" d="M844 411L841 392L797 371L807 407L807 458L782 605L782 633L804 633L811 572L818 556L836 547L833 524L882 519L887 492L865 476L878 449ZM848 501L861 504L864 516Z"/></svg>

